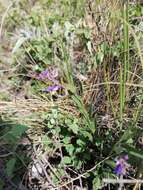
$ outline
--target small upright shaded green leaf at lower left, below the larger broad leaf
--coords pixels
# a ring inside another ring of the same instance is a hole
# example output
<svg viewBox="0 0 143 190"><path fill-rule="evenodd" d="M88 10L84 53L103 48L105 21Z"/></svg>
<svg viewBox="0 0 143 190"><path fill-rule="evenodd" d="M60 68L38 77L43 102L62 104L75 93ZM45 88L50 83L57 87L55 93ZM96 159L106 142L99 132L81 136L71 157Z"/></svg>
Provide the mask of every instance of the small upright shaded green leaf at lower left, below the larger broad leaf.
<svg viewBox="0 0 143 190"><path fill-rule="evenodd" d="M12 159L10 159L10 160L6 163L6 174L7 174L9 177L12 177L12 174L13 174L13 172L14 172L15 163L16 163L16 158L12 158Z"/></svg>

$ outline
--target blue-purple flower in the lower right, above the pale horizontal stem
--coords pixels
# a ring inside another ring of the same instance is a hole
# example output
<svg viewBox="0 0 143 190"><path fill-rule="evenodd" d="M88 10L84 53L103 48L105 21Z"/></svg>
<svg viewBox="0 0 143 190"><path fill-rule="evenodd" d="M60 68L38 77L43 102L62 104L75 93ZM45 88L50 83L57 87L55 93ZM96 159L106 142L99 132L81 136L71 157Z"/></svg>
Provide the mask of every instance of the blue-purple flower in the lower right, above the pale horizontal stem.
<svg viewBox="0 0 143 190"><path fill-rule="evenodd" d="M129 164L127 163L128 155L124 155L118 159L116 159L116 167L114 169L114 173L117 175L125 175L127 172L127 168Z"/></svg>

